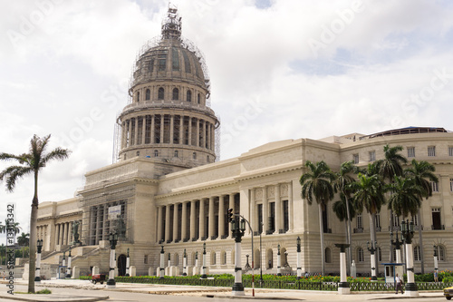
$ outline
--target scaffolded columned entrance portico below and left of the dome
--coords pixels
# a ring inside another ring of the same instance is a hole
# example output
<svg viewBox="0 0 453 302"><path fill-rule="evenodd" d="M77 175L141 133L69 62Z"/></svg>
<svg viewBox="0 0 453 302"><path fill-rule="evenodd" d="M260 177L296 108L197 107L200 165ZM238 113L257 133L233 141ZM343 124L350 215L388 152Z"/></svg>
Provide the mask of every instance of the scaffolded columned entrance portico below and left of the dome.
<svg viewBox="0 0 453 302"><path fill-rule="evenodd" d="M110 233L118 233L121 241L132 242L131 222L134 218L135 186L108 190L82 196L81 241L84 245L98 245L108 240Z"/></svg>

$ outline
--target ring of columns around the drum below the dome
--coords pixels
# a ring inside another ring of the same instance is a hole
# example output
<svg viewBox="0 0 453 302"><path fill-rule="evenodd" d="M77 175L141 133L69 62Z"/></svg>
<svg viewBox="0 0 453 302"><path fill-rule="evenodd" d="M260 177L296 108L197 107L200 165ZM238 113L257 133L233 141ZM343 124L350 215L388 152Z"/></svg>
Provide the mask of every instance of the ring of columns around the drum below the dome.
<svg viewBox="0 0 453 302"><path fill-rule="evenodd" d="M215 150L215 124L178 114L146 114L121 123L121 150L131 146L173 143Z"/></svg>

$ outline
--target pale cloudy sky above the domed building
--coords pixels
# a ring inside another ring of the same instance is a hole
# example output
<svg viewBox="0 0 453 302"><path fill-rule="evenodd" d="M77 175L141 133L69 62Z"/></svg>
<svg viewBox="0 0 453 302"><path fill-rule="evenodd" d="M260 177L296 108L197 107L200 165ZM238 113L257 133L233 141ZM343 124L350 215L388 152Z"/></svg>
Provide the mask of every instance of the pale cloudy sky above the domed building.
<svg viewBox="0 0 453 302"><path fill-rule="evenodd" d="M220 160L269 141L371 134L408 126L453 131L453 2L173 0L198 45L221 121ZM39 198L72 198L112 163L116 117L140 47L160 34L165 0L0 2L0 152L72 151L39 179ZM0 162L0 169L12 162ZM33 177L6 204L28 232ZM0 236L0 242L3 242Z"/></svg>

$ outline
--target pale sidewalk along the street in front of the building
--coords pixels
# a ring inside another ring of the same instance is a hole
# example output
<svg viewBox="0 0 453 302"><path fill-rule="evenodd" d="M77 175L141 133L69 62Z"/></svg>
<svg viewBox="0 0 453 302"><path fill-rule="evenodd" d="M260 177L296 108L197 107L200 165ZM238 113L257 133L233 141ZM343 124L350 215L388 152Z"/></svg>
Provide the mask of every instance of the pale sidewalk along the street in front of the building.
<svg viewBox="0 0 453 302"><path fill-rule="evenodd" d="M0 280L0 284L5 284L5 281ZM14 280L15 285L26 286L25 280ZM105 295L101 297L94 296L72 296L62 294L51 295L28 295L28 294L14 294L9 295L6 292L0 292L0 299L14 299L22 301L39 301L39 302L55 302L55 301L68 301L68 302L91 302L101 301L109 298L109 291L121 291L140 294L153 294L153 295L178 295L178 296L191 296L191 297L228 297L238 299L269 299L269 300L308 300L317 301L332 299L335 301L365 301L365 300L379 300L379 299L395 299L395 298L410 298L404 295L395 295L393 292L361 292L352 293L351 295L339 295L336 291L315 291L315 290L288 290L288 289L271 289L271 288L255 288L255 297L252 297L252 288L246 288L246 296L233 296L230 287L190 287L190 286L172 286L172 285L154 285L154 284L137 284L137 283L117 283L116 288L107 289L105 285L92 284L89 280L74 280L74 279L55 279L43 280L41 284L36 284L35 289L41 290L42 288L52 287L71 287L80 288L85 290L103 290ZM419 297L443 297L441 291L438 292L420 292Z"/></svg>

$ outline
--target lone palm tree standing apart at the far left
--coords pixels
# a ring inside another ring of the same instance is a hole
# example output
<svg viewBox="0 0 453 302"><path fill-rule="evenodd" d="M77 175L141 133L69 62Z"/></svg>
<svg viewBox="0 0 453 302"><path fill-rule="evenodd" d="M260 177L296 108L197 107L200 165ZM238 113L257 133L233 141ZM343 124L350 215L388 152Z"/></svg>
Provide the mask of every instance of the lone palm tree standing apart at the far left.
<svg viewBox="0 0 453 302"><path fill-rule="evenodd" d="M30 215L30 241L36 242L36 221L38 218L38 175L46 164L53 160L63 161L68 158L71 151L57 147L53 151L46 152L47 144L51 135L40 138L34 135L30 141L30 150L28 153L14 155L9 153L0 153L0 160L18 161L18 164L5 168L0 172L0 181L5 179L6 190L12 192L17 180L25 175L34 175L34 197L32 201L32 213ZM34 270L35 270L35 253L36 246L30 245L30 263L28 277L28 292L34 293Z"/></svg>

